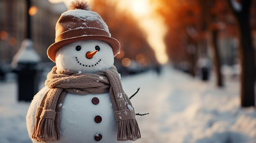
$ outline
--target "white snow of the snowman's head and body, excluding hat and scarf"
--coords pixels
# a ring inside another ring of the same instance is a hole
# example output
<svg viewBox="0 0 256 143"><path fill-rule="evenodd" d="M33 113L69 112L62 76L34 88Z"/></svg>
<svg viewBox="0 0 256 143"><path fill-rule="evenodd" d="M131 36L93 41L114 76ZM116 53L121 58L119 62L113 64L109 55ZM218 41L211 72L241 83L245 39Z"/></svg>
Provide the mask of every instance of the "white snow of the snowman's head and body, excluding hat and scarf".
<svg viewBox="0 0 256 143"><path fill-rule="evenodd" d="M94 55L88 56L88 52ZM99 40L73 42L63 46L56 53L56 66L59 70L97 73L112 67L113 63L111 47ZM99 77L98 80L102 78ZM36 109L47 90L48 87L40 90L29 107L27 113L29 137L34 129ZM132 141L117 141L117 121L109 92L88 95L67 93L64 102L58 106L62 106L59 124L60 140L47 141L47 143L132 143ZM32 141L39 143L35 139Z"/></svg>

